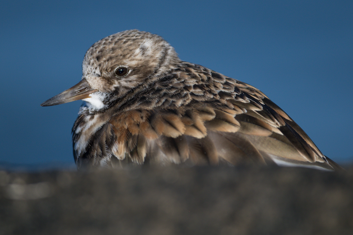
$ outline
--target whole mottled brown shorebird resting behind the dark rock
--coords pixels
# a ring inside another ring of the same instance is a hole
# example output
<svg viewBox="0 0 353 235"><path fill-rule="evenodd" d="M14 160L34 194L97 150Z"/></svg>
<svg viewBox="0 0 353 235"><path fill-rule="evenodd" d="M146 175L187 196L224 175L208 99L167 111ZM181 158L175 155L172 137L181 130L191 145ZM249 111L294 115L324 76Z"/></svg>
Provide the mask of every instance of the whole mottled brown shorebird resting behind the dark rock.
<svg viewBox="0 0 353 235"><path fill-rule="evenodd" d="M126 30L94 43L82 79L43 102L83 100L78 169L143 164L341 167L257 88L180 60L161 36Z"/></svg>

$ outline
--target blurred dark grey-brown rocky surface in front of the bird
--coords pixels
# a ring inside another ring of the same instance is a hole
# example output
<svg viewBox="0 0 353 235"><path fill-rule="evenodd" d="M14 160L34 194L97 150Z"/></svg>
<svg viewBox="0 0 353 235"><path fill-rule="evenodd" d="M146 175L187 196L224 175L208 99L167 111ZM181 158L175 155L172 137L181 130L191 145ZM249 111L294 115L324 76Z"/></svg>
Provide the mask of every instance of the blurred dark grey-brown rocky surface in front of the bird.
<svg viewBox="0 0 353 235"><path fill-rule="evenodd" d="M353 167L2 170L0 234L353 234Z"/></svg>

